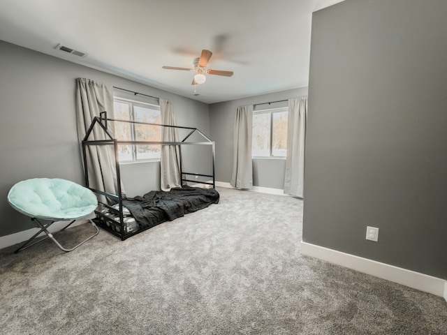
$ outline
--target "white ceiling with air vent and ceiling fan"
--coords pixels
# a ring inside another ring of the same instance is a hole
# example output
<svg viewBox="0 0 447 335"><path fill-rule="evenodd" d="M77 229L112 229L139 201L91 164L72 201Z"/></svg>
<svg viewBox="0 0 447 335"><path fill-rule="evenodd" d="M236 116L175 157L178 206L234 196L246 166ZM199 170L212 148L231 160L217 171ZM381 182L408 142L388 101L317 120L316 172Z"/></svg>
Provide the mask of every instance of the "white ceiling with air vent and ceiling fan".
<svg viewBox="0 0 447 335"><path fill-rule="evenodd" d="M0 0L0 40L216 103L308 85L312 12L342 0ZM87 53L80 58L55 47ZM213 52L191 85L193 59Z"/></svg>

